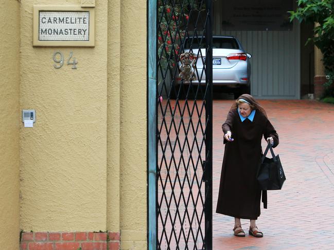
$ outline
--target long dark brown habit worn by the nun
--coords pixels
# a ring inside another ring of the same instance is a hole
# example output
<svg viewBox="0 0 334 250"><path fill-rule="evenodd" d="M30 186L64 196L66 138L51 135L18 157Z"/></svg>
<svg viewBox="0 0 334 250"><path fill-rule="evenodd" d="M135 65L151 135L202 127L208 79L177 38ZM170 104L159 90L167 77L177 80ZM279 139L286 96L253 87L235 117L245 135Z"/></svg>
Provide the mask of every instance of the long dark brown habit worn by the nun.
<svg viewBox="0 0 334 250"><path fill-rule="evenodd" d="M225 151L221 170L216 213L241 219L256 220L260 216L261 190L256 172L261 159L261 139L274 139L278 135L273 125L261 111L256 110L253 122L241 122L238 110L232 109L222 125L223 132L232 132L233 142L224 139Z"/></svg>

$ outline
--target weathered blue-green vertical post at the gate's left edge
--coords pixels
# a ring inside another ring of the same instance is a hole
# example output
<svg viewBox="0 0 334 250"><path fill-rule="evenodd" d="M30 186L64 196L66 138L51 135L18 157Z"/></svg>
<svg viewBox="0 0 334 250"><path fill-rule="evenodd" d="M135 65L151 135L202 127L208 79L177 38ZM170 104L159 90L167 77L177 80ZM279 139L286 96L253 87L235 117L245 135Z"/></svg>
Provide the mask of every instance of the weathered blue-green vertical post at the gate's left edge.
<svg viewBox="0 0 334 250"><path fill-rule="evenodd" d="M157 128L157 102L156 102L156 58L157 58L157 41L156 41L156 18L157 18L157 0L147 1L147 220L148 232L147 241L148 249L155 250L157 245L157 219L156 219L156 199L157 199L157 143L156 143L156 128Z"/></svg>

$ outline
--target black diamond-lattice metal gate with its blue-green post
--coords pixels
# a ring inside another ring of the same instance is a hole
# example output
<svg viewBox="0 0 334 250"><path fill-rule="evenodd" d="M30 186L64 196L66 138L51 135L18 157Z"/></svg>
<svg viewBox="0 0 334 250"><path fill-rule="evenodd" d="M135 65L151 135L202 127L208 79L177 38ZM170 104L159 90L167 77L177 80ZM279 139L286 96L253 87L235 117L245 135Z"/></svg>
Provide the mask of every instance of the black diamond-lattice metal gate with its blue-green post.
<svg viewBox="0 0 334 250"><path fill-rule="evenodd" d="M149 249L212 249L211 13L148 1Z"/></svg>

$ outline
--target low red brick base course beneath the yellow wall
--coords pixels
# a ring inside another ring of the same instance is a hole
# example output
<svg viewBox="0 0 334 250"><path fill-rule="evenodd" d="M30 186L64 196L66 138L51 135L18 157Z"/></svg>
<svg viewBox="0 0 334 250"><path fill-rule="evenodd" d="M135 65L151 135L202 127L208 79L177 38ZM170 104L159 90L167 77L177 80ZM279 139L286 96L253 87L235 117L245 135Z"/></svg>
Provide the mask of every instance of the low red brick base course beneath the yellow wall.
<svg viewBox="0 0 334 250"><path fill-rule="evenodd" d="M109 236L109 237L108 237ZM24 232L21 250L118 250L119 233ZM80 248L81 247L81 248Z"/></svg>

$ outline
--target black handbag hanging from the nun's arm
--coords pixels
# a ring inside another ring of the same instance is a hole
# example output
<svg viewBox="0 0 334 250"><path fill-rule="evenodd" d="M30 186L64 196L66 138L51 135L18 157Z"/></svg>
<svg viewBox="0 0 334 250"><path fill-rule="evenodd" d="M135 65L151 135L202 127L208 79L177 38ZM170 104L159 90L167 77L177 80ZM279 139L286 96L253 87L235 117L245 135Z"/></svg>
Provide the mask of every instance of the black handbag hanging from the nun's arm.
<svg viewBox="0 0 334 250"><path fill-rule="evenodd" d="M272 158L266 157L269 150ZM283 183L286 180L282 163L280 163L279 156L275 156L270 142L268 142L265 153L263 153L256 176L262 190L263 207L267 208L267 190L282 189Z"/></svg>

